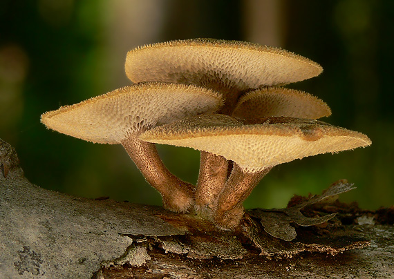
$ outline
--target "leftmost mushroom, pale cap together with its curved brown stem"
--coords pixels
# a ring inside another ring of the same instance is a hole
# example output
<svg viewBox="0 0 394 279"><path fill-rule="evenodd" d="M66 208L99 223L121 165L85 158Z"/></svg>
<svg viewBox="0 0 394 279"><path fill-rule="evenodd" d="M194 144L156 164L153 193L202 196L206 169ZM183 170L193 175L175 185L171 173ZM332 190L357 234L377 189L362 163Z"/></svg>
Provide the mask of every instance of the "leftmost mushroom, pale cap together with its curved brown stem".
<svg viewBox="0 0 394 279"><path fill-rule="evenodd" d="M162 195L171 211L187 211L194 186L170 173L156 146L138 140L149 128L184 117L207 113L223 104L220 94L207 88L149 82L134 84L41 115L48 128L89 142L122 144L147 182Z"/></svg>

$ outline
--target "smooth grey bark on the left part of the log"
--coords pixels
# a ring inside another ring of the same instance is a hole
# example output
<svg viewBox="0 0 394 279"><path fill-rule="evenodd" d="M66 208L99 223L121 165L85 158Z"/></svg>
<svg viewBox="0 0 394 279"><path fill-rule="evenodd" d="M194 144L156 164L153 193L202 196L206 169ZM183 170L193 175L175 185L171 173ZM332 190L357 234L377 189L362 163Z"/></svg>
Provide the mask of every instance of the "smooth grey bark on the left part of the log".
<svg viewBox="0 0 394 279"><path fill-rule="evenodd" d="M0 144L0 278L91 278L126 252L127 234L182 234L146 206L35 186Z"/></svg>

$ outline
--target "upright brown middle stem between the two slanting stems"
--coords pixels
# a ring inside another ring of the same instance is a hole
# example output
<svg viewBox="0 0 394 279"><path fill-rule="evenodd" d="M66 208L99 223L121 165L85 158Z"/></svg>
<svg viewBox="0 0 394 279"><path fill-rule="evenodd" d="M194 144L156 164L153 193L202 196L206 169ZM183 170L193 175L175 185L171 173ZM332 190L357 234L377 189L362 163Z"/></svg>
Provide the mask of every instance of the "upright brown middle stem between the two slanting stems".
<svg viewBox="0 0 394 279"><path fill-rule="evenodd" d="M200 153L200 173L196 187L196 210L208 209L227 180L228 161L207 151Z"/></svg>

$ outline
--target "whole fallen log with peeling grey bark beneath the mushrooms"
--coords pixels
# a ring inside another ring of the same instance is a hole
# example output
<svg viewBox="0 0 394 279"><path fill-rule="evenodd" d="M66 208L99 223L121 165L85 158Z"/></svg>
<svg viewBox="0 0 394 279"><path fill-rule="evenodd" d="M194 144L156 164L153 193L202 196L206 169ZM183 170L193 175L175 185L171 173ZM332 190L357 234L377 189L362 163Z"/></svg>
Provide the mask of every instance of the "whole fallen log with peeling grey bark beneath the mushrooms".
<svg viewBox="0 0 394 279"><path fill-rule="evenodd" d="M394 278L392 223L360 218L326 235L297 227L292 242L252 217L218 231L160 206L41 189L0 141L0 278Z"/></svg>

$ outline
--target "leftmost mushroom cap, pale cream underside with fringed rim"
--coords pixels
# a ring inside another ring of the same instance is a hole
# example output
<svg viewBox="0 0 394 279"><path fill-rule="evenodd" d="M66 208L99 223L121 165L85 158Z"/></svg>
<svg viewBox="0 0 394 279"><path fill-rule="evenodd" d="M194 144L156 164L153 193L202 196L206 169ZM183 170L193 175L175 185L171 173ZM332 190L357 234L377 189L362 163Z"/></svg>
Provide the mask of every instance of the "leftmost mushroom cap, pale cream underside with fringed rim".
<svg viewBox="0 0 394 279"><path fill-rule="evenodd" d="M48 128L89 142L119 144L132 134L218 110L221 94L207 88L140 83L41 115Z"/></svg>

